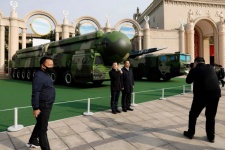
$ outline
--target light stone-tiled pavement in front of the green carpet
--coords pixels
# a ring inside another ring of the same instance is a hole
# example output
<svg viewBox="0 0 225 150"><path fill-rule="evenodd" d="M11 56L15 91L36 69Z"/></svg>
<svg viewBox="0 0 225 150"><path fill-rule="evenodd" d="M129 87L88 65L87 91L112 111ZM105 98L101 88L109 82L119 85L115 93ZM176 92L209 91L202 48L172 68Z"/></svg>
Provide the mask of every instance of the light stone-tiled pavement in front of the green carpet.
<svg viewBox="0 0 225 150"><path fill-rule="evenodd" d="M225 88L222 88L225 95ZM225 97L216 116L215 143L207 140L204 110L193 139L183 136L188 127L192 93L138 104L134 111L75 116L49 122L52 150L225 150ZM53 107L54 109L54 107ZM33 126L0 132L0 150L27 150ZM32 150L32 148L30 149Z"/></svg>

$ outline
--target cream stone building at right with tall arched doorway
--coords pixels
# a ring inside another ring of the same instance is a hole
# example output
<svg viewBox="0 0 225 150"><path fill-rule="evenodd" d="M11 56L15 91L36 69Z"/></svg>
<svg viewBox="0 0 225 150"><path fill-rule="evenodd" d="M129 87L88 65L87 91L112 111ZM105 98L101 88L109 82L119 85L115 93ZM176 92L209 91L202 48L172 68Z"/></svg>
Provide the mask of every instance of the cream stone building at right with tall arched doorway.
<svg viewBox="0 0 225 150"><path fill-rule="evenodd" d="M224 0L154 0L143 13L137 10L134 19L144 28L149 18L150 47L167 47L167 52L189 53L192 61L201 56L207 63L225 66L224 14Z"/></svg>

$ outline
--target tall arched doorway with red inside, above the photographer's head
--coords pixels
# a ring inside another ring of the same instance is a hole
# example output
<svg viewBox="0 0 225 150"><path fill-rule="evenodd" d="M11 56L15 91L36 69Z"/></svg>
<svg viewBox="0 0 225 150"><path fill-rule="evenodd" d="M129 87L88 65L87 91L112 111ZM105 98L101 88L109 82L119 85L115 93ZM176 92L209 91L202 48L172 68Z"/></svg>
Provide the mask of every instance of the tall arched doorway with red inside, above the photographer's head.
<svg viewBox="0 0 225 150"><path fill-rule="evenodd" d="M194 57L201 56L206 63L214 64L218 59L218 40L216 25L212 20L199 19L194 27Z"/></svg>

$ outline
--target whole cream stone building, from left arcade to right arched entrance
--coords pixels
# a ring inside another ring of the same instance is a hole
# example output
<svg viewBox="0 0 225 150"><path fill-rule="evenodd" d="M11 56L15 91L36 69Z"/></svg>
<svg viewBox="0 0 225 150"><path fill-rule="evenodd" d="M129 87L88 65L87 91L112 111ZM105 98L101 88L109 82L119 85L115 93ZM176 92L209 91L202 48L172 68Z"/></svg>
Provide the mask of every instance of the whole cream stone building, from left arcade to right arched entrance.
<svg viewBox="0 0 225 150"><path fill-rule="evenodd" d="M51 31L54 32L55 41L81 34L78 27L90 22L93 30L103 32L122 32L123 25L129 24L124 33L128 28L129 31L133 28L133 36L128 37L134 50L166 48L156 53L188 53L192 61L195 57L202 56L206 63L218 63L225 67L224 0L154 0L146 6L144 12L137 9L133 19L118 20L114 26L110 25L109 16L106 16L105 26L101 26L92 16L81 16L70 24L66 10L63 11L63 24L59 24L52 14L42 10L34 10L23 18L18 18L18 4L14 1L11 6L9 17L5 17L0 10L0 74L6 73L5 62L10 61L17 50L26 48L33 36L42 36L30 34L30 25L46 20L50 20L54 27ZM39 20L29 22L36 15Z"/></svg>

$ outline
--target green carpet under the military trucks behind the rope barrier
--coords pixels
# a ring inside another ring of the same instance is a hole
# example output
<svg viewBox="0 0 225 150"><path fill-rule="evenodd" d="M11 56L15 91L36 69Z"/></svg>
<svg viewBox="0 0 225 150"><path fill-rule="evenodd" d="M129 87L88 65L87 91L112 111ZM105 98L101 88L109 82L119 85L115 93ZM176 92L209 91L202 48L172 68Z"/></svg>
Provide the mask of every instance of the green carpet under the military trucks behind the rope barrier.
<svg viewBox="0 0 225 150"><path fill-rule="evenodd" d="M87 101L73 102L75 100L100 97L91 99L91 112L110 109L109 85L109 81L104 82L100 87L94 87L92 84L73 87L56 85L56 101L52 109L50 120L52 121L77 116L86 112ZM165 97L180 94L183 92L182 85L186 85L185 79L183 78L173 78L168 82L149 82L146 80L136 81L134 88L134 92L137 92L135 94L135 103L159 99L162 96L162 88L165 88ZM190 85L186 85L186 87L187 91L190 90ZM70 102L63 103L67 101ZM13 110L5 111L5 109L13 109L14 107L28 106L28 108L19 108L18 124L22 124L24 126L35 124L35 119L33 118L32 108L30 105L31 82L0 80L0 131L6 131L9 126L14 124Z"/></svg>

